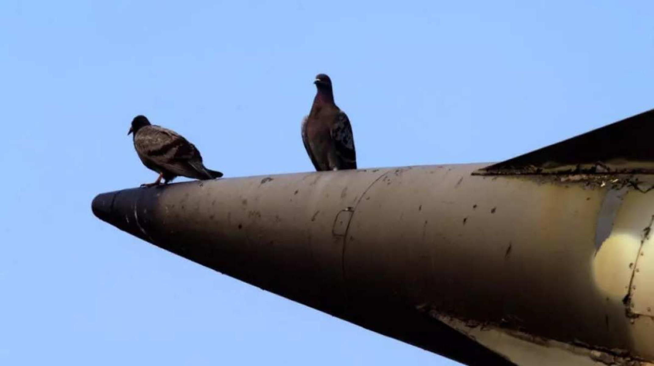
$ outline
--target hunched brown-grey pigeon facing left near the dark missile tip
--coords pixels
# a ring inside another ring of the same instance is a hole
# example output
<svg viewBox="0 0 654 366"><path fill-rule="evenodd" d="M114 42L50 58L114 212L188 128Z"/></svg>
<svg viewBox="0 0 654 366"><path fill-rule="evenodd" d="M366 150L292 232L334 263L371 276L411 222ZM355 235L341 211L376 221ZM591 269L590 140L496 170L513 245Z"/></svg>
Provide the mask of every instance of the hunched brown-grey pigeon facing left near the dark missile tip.
<svg viewBox="0 0 654 366"><path fill-rule="evenodd" d="M141 187L160 185L162 178L163 184L167 184L179 175L195 179L222 177L222 173L205 168L195 145L175 131L150 124L145 116L134 117L129 134L133 134L134 148L143 165L159 173L154 183Z"/></svg>

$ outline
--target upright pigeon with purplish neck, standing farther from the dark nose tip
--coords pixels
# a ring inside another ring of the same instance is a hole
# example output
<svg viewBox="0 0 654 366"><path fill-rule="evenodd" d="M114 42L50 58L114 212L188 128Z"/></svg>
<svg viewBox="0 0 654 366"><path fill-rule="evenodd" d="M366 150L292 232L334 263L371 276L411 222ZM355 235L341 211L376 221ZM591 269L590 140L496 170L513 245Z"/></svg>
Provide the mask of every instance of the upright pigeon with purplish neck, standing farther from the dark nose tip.
<svg viewBox="0 0 654 366"><path fill-rule="evenodd" d="M354 136L347 115L334 104L332 81L318 74L316 98L302 120L302 141L318 172L356 169Z"/></svg>

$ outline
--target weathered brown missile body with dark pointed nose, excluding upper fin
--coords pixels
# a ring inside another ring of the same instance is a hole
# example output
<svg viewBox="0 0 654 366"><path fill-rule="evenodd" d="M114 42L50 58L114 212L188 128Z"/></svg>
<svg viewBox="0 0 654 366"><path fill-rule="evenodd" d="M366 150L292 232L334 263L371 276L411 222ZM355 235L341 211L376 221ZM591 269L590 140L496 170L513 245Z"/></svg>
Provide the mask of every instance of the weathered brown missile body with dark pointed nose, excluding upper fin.
<svg viewBox="0 0 654 366"><path fill-rule="evenodd" d="M192 261L470 365L542 364L548 348L654 360L647 177L472 175L482 167L196 181L101 194L93 208Z"/></svg>

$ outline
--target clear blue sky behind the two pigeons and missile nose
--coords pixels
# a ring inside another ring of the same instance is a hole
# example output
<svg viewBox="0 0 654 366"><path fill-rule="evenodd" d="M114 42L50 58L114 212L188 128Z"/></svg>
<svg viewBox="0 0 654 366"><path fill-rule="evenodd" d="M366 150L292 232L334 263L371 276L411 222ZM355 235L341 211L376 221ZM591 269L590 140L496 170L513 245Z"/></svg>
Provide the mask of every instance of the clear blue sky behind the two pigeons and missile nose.
<svg viewBox="0 0 654 366"><path fill-rule="evenodd" d="M653 108L652 19L651 0L1 1L0 364L454 365L95 219L95 194L156 178L131 118L228 177L309 171L324 72L360 167L503 160Z"/></svg>

